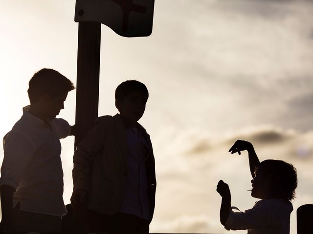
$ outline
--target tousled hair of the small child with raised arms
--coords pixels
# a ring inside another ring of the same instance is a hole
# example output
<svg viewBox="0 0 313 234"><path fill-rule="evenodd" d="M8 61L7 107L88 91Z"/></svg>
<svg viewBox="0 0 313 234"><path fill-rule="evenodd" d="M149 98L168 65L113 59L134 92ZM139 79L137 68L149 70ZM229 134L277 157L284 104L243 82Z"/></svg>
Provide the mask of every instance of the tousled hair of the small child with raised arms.
<svg viewBox="0 0 313 234"><path fill-rule="evenodd" d="M298 185L297 170L291 163L268 159L258 165L255 173L258 170L262 171L268 181L274 197L289 201L295 198L295 189Z"/></svg>

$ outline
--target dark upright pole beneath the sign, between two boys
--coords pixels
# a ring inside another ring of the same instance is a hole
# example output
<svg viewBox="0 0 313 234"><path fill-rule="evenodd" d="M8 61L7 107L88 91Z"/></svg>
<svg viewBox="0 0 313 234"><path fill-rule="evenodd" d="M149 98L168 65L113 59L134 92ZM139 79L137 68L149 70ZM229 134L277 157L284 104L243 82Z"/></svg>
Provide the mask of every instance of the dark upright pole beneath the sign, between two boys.
<svg viewBox="0 0 313 234"><path fill-rule="evenodd" d="M78 24L75 148L98 117L100 39L101 23Z"/></svg>

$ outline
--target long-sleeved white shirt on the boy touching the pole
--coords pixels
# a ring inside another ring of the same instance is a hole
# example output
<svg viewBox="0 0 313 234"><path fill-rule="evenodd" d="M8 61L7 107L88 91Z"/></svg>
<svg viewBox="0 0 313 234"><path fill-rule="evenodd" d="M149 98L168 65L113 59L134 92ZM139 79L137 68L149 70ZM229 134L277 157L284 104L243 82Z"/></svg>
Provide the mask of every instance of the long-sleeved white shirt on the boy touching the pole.
<svg viewBox="0 0 313 234"><path fill-rule="evenodd" d="M28 109L3 138L0 186L16 188L13 206L20 202L23 211L65 215L59 139L70 134L70 126L62 118L46 125Z"/></svg>

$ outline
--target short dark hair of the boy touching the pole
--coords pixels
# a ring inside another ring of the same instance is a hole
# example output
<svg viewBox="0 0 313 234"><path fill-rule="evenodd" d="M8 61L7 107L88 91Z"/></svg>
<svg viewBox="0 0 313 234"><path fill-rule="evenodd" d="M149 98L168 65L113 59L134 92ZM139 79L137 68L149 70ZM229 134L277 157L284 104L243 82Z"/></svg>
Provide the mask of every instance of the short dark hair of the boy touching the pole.
<svg viewBox="0 0 313 234"><path fill-rule="evenodd" d="M74 84L61 73L43 68L29 80L27 90L30 103L35 103L43 95L55 98L64 92L75 89Z"/></svg>

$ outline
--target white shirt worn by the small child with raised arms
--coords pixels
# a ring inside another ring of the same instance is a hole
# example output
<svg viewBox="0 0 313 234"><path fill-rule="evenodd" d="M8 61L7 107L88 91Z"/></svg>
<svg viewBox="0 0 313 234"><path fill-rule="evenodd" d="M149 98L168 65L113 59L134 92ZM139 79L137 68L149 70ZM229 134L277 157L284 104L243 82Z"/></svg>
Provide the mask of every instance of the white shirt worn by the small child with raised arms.
<svg viewBox="0 0 313 234"><path fill-rule="evenodd" d="M230 211L226 230L248 230L248 234L289 234L292 204L283 199L257 201L245 212Z"/></svg>

